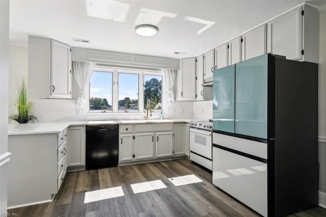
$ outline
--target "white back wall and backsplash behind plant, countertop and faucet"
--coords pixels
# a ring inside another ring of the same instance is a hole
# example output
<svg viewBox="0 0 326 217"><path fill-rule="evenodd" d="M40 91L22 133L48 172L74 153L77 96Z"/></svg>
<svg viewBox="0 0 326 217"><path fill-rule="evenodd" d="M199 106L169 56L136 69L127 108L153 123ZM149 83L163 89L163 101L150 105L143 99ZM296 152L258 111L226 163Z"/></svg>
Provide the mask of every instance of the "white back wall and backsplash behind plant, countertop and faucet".
<svg viewBox="0 0 326 217"><path fill-rule="evenodd" d="M22 78L28 85L28 48L10 46L9 50L9 114L16 114L15 100L16 100L16 87ZM72 76L72 79L75 79ZM77 98L78 87L76 87L75 80L72 81L72 96ZM117 119L143 119L144 114L133 115L131 112L128 114L86 114L87 111L80 111L76 114L76 99L37 99L30 98L34 102L33 115L38 117L42 122L48 121L69 121L69 120L117 120ZM152 113L150 119L158 119L159 113ZM176 101L174 105L167 107L164 118L193 118L193 102L179 102Z"/></svg>

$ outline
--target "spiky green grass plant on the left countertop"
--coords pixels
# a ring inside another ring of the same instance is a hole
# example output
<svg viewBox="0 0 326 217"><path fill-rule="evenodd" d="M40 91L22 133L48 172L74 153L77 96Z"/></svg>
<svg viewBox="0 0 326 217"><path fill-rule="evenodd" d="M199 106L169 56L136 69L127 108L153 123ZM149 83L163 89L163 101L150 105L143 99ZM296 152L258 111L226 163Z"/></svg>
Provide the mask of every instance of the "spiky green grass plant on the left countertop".
<svg viewBox="0 0 326 217"><path fill-rule="evenodd" d="M15 102L17 113L9 116L9 120L15 120L18 123L27 123L29 121L38 121L38 118L31 115L31 110L33 107L32 102L27 101L27 91L24 79L22 79L21 84L17 87L17 100Z"/></svg>

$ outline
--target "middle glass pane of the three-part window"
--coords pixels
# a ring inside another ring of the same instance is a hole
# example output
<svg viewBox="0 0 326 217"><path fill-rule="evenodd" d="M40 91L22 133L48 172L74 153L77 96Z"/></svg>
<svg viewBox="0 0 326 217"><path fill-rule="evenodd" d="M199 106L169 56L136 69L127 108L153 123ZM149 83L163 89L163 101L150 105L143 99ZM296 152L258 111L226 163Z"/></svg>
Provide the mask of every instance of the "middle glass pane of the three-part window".
<svg viewBox="0 0 326 217"><path fill-rule="evenodd" d="M138 74L119 72L118 110L139 110L138 108Z"/></svg>

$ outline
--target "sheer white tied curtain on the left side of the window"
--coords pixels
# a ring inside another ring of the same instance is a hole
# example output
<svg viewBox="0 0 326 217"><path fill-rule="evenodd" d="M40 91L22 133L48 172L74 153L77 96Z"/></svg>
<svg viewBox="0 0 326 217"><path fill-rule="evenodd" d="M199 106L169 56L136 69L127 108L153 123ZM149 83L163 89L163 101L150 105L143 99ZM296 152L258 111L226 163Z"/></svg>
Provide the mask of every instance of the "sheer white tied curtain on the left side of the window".
<svg viewBox="0 0 326 217"><path fill-rule="evenodd" d="M77 107L85 107L87 104L87 89L93 75L95 63L72 61L72 67L76 82L82 89L78 93Z"/></svg>

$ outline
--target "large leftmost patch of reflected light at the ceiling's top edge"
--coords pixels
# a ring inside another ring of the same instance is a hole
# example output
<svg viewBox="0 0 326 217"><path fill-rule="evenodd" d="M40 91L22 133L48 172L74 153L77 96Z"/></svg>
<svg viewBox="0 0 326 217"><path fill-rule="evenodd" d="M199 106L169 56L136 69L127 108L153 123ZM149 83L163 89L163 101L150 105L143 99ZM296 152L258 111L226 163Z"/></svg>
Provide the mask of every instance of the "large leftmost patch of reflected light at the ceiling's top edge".
<svg viewBox="0 0 326 217"><path fill-rule="evenodd" d="M124 22L129 5L116 1L86 1L87 15L101 19L110 19L117 22Z"/></svg>

